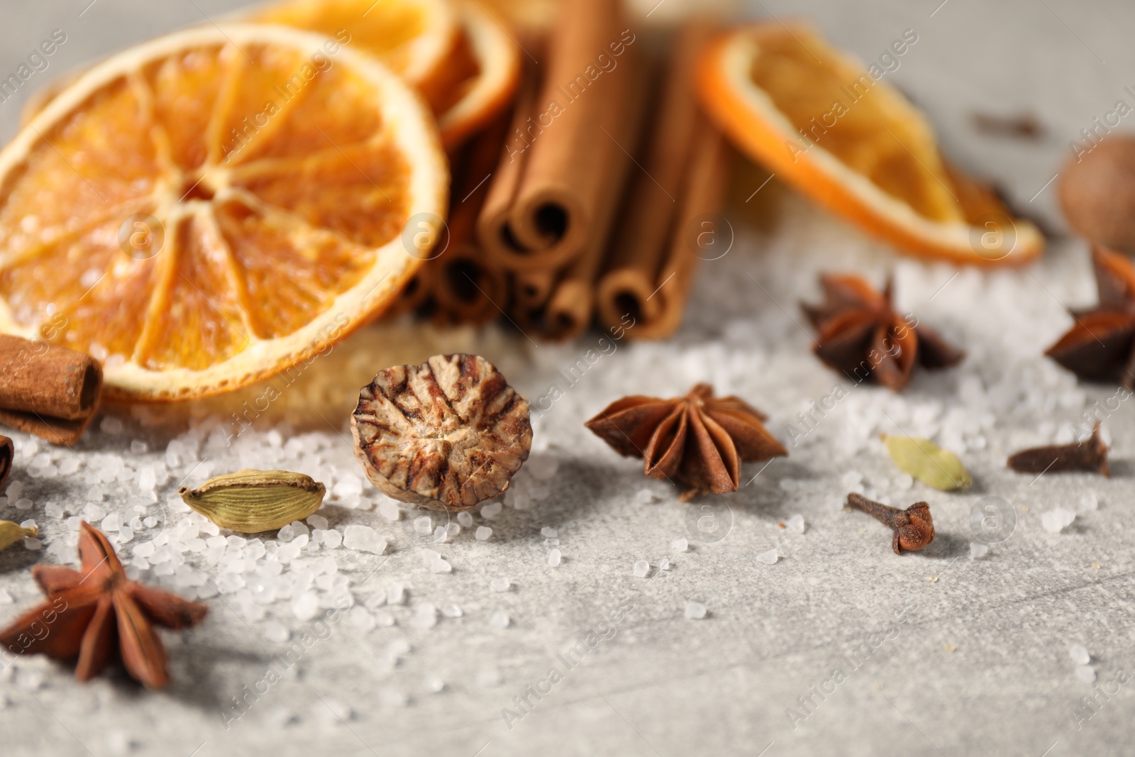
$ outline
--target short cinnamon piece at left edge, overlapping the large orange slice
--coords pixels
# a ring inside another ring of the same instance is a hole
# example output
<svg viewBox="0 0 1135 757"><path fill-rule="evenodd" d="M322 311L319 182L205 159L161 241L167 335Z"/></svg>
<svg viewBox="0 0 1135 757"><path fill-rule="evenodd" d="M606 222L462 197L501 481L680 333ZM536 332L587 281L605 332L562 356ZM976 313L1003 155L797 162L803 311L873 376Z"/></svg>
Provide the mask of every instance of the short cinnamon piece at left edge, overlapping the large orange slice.
<svg viewBox="0 0 1135 757"><path fill-rule="evenodd" d="M0 335L0 423L53 444L77 441L99 406L102 365L82 352Z"/></svg>

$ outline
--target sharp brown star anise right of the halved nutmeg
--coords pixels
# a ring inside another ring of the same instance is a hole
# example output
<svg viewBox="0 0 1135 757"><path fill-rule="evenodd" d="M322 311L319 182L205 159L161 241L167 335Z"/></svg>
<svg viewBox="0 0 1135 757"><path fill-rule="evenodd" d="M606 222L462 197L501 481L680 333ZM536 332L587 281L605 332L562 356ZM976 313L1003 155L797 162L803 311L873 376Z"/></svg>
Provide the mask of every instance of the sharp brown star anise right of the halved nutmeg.
<svg viewBox="0 0 1135 757"><path fill-rule="evenodd" d="M698 384L684 397L634 395L607 405L586 426L628 457L641 457L647 476L699 494L737 491L741 462L783 457L788 451L764 427L765 415L738 397L714 397Z"/></svg>

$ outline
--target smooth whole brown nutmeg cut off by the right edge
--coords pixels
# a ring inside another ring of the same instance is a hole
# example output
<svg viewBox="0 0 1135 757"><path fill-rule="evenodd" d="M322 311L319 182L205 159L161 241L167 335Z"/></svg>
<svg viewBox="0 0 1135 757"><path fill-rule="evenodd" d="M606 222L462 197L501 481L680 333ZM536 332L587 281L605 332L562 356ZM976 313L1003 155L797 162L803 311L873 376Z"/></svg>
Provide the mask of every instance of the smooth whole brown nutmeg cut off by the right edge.
<svg viewBox="0 0 1135 757"><path fill-rule="evenodd" d="M1135 255L1135 136L1108 136L1060 171L1060 205L1095 244Z"/></svg>

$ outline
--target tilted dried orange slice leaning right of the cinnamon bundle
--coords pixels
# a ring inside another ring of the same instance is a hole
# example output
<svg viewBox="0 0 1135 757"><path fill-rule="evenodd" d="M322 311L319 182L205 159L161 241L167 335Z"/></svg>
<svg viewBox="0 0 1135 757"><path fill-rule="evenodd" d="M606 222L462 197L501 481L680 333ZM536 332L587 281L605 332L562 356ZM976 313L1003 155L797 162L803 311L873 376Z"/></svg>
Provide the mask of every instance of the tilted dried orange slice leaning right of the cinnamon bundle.
<svg viewBox="0 0 1135 757"><path fill-rule="evenodd" d="M877 74L877 75L876 75ZM922 112L801 23L733 30L705 51L703 103L750 158L902 251L1023 263L1037 228L942 158Z"/></svg>

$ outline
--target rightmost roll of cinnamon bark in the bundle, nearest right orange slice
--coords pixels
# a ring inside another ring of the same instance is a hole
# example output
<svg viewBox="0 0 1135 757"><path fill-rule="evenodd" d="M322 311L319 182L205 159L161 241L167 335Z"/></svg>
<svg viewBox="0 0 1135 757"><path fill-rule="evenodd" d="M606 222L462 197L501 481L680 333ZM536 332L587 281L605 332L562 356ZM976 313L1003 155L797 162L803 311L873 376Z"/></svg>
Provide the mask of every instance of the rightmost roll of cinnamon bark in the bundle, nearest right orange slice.
<svg viewBox="0 0 1135 757"><path fill-rule="evenodd" d="M633 339L662 339L682 325L700 260L716 260L732 243L732 229L718 213L729 176L729 145L704 116L699 116L686 191L680 200L676 224L667 246L666 260L658 270L659 316L627 329ZM725 227L723 227L723 225ZM617 319L612 323L619 323Z"/></svg>

